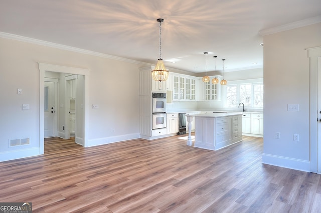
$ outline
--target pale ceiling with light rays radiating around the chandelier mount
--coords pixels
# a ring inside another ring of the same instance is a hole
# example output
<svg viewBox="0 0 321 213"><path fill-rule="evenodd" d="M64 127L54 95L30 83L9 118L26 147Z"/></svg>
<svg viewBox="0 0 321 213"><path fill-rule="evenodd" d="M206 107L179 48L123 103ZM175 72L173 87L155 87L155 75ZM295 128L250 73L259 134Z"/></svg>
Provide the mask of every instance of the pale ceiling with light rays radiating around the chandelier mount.
<svg viewBox="0 0 321 213"><path fill-rule="evenodd" d="M223 69L221 60L226 59L228 72L263 67L262 32L291 23L307 25L321 21L321 2L11 0L0 3L0 32L150 64L159 58L157 18L165 19L161 27L162 59L170 71L171 68L194 73L213 71L213 56L218 56L217 70ZM205 56L204 52L209 54Z"/></svg>

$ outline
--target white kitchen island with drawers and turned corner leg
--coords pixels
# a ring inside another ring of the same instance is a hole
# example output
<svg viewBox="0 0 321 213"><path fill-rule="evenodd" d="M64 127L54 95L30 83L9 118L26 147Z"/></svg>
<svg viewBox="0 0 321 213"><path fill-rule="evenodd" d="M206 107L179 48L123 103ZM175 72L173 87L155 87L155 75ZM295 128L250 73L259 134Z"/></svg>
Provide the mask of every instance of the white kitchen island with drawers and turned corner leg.
<svg viewBox="0 0 321 213"><path fill-rule="evenodd" d="M193 118L195 118L195 147L218 150L242 141L241 114L187 115L189 129L191 129ZM187 145L193 145L190 131Z"/></svg>

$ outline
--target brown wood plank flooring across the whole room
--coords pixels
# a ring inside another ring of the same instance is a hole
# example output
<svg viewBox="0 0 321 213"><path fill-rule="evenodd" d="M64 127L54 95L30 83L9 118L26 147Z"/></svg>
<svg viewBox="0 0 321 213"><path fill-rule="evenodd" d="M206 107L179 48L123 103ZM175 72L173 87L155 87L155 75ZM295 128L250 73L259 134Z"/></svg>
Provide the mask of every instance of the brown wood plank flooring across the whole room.
<svg viewBox="0 0 321 213"><path fill-rule="evenodd" d="M321 212L320 175L262 164L262 138L210 151L181 137L46 139L44 155L0 162L0 202L32 202L34 213Z"/></svg>

